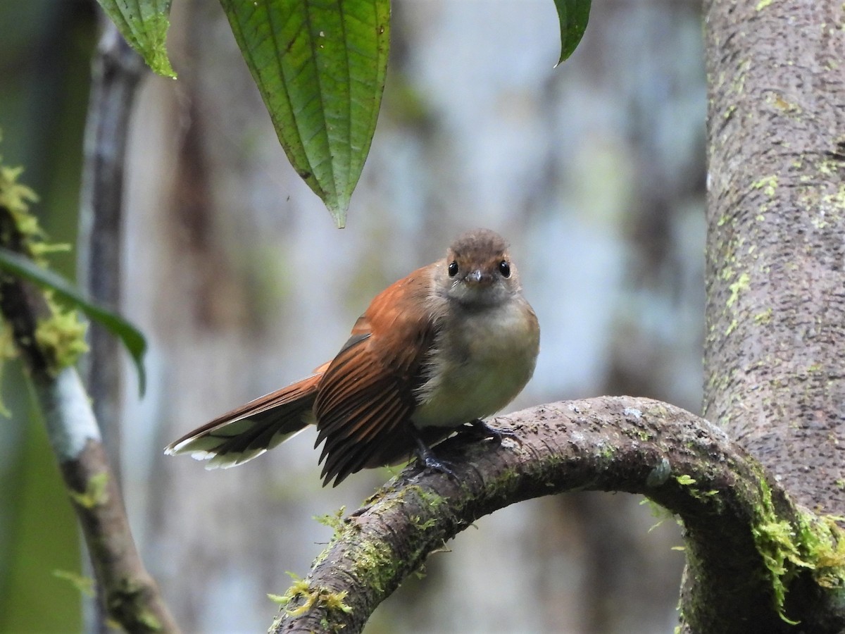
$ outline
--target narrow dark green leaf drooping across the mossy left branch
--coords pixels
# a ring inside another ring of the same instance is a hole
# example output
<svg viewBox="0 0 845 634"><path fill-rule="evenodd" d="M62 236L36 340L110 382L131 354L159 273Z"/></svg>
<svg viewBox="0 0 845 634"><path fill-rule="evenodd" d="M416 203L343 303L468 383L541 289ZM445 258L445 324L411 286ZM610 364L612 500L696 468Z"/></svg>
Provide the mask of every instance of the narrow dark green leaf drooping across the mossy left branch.
<svg viewBox="0 0 845 634"><path fill-rule="evenodd" d="M78 288L74 287L73 284L65 280L62 276L41 268L41 266L36 265L29 258L17 254L14 251L3 249L2 247L0 247L0 269L14 273L14 275L34 282L42 288L51 290L55 297L81 310L91 320L99 322L112 335L117 336L132 357L135 368L138 369L138 389L140 394L142 396L144 395L146 385L144 353L146 352L147 342L144 340L144 336L133 325L117 316L117 314L103 309L95 303L91 303L83 297Z"/></svg>

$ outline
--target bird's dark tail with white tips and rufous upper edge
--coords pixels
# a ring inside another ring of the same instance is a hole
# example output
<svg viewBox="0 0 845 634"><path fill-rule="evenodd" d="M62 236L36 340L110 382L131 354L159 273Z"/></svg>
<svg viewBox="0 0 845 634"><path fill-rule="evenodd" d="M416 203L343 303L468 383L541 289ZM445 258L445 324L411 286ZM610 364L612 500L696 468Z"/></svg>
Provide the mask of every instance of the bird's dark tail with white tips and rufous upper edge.
<svg viewBox="0 0 845 634"><path fill-rule="evenodd" d="M312 407L324 367L233 409L167 445L171 456L190 454L206 460L205 468L234 467L252 460L313 423Z"/></svg>

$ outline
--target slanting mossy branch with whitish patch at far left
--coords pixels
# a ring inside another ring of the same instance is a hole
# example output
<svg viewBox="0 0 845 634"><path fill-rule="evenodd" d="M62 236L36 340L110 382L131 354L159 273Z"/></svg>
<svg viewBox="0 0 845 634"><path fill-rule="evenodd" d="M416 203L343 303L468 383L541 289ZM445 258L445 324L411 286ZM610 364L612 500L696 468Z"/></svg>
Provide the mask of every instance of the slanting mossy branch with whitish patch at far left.
<svg viewBox="0 0 845 634"><path fill-rule="evenodd" d="M0 199L7 201L0 203L0 243L31 256L28 240L19 228L25 207L19 204L13 211L4 206L13 199L4 189L11 189L10 183L0 182ZM5 273L0 275L0 314L12 330L35 385L106 613L129 632L178 631L135 548L88 395L79 374L60 353L62 346L73 345L72 340L80 336L75 320L57 319L44 292Z"/></svg>

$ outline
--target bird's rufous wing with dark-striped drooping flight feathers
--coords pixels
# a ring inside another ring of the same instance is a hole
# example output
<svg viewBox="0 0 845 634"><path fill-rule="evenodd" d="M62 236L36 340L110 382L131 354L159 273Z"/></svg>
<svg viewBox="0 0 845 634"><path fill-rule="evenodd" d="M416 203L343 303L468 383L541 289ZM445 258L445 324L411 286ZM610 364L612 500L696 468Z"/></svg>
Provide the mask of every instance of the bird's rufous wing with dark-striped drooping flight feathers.
<svg viewBox="0 0 845 634"><path fill-rule="evenodd" d="M430 267L373 299L326 369L314 403L324 484L365 467L399 462L416 443L409 429L414 388L436 324L427 310Z"/></svg>

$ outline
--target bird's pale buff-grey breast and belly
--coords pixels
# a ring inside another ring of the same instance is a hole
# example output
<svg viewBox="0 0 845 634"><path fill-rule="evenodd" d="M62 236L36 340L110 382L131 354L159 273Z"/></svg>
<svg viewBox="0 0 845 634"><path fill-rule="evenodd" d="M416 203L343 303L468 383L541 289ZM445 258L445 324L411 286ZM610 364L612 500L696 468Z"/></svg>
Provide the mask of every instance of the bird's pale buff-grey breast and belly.
<svg viewBox="0 0 845 634"><path fill-rule="evenodd" d="M498 412L531 379L538 350L537 318L521 298L451 311L424 363L412 422L457 427Z"/></svg>

